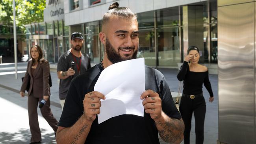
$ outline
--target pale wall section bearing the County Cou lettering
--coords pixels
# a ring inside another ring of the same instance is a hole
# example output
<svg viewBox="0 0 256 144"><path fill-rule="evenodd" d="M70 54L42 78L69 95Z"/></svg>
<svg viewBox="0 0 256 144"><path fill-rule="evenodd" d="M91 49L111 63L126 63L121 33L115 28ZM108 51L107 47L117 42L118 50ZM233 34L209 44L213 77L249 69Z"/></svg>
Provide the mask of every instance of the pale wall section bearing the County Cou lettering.
<svg viewBox="0 0 256 144"><path fill-rule="evenodd" d="M44 21L52 22L54 20L63 20L63 19L64 19L64 3L60 2L60 0L49 0L48 6L44 10Z"/></svg>

